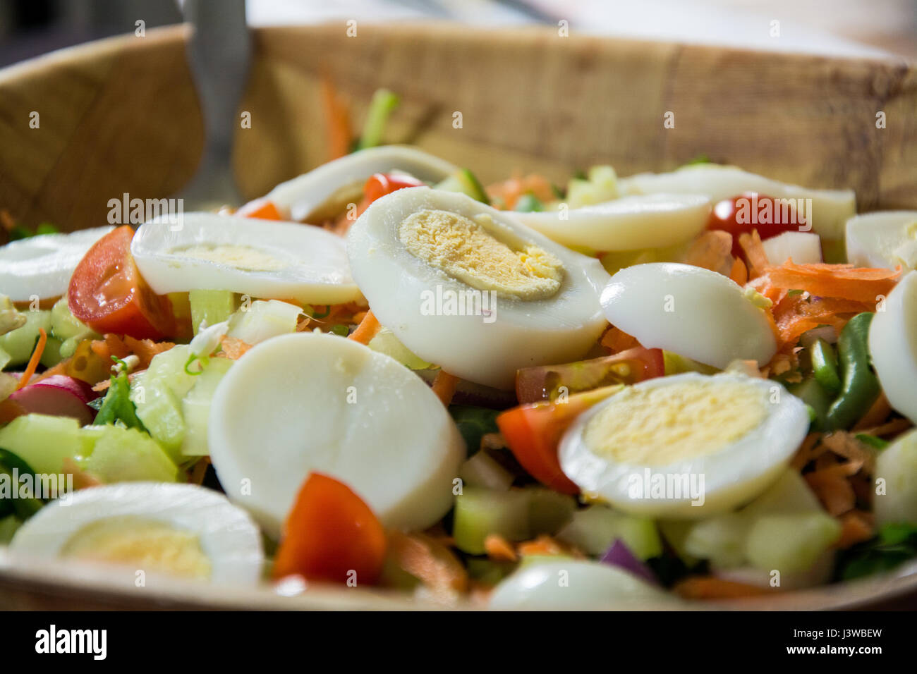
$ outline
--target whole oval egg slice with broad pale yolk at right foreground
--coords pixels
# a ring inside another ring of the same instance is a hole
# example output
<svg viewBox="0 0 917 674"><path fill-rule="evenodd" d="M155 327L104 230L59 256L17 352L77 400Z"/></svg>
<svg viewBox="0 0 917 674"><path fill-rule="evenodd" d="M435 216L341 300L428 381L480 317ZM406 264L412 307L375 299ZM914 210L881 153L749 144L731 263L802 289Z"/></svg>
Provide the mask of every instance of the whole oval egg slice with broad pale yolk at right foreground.
<svg viewBox="0 0 917 674"><path fill-rule="evenodd" d="M763 492L808 430L805 403L777 381L688 372L581 414L561 440L560 467L625 513L695 519Z"/></svg>

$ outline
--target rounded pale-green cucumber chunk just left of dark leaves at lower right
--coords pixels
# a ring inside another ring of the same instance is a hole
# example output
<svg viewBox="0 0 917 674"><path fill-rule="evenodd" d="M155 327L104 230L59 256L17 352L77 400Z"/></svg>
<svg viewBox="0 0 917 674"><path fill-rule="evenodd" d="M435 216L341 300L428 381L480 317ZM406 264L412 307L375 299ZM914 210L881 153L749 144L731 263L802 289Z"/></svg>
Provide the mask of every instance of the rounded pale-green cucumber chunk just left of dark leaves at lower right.
<svg viewBox="0 0 917 674"><path fill-rule="evenodd" d="M806 571L840 535L841 523L827 513L763 515L748 531L746 557L757 569Z"/></svg>

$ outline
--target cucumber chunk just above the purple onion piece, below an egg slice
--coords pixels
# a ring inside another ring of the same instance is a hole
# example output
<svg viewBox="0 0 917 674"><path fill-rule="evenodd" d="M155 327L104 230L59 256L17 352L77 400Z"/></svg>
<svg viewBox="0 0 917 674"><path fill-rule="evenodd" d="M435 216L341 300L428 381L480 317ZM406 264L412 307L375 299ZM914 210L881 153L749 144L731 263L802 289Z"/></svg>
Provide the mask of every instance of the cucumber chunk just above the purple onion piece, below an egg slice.
<svg viewBox="0 0 917 674"><path fill-rule="evenodd" d="M578 510L558 533L559 540L593 556L604 554L617 538L638 558L662 554L662 540L652 520L618 513L604 505Z"/></svg>

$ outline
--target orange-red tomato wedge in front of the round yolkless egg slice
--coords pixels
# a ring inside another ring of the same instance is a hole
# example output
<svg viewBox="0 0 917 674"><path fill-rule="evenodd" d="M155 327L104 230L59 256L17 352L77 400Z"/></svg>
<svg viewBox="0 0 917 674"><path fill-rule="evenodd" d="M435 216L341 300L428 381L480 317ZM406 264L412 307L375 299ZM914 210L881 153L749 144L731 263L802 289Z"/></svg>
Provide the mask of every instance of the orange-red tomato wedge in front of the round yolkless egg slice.
<svg viewBox="0 0 917 674"><path fill-rule="evenodd" d="M358 585L379 580L385 561L385 529L370 506L346 484L322 473L306 478L283 527L273 577Z"/></svg>

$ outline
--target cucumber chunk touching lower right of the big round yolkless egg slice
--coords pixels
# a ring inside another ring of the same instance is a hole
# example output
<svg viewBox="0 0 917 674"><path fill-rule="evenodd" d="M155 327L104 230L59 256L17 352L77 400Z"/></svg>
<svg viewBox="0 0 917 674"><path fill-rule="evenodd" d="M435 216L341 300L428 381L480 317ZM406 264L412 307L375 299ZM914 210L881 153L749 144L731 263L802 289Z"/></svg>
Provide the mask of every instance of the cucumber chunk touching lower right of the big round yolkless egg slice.
<svg viewBox="0 0 917 674"><path fill-rule="evenodd" d="M495 492L465 487L456 496L452 517L456 547L470 555L482 555L484 539L491 534L524 541L529 537L529 507L529 495L521 490Z"/></svg>

